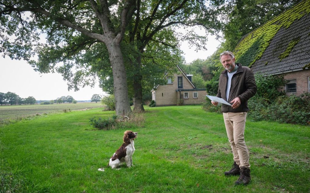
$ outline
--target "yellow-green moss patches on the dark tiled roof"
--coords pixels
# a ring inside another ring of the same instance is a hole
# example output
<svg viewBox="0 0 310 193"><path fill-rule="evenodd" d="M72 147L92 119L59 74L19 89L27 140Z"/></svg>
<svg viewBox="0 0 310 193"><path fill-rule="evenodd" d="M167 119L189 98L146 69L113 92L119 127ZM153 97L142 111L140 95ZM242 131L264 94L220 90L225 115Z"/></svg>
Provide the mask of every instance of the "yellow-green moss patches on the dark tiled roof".
<svg viewBox="0 0 310 193"><path fill-rule="evenodd" d="M281 27L287 29L295 20L298 20L309 13L310 0L305 0L258 27L254 31L251 31L241 39L234 50L236 62L247 66L254 64L255 61L263 55L270 41ZM294 48L294 45L296 45L296 41L292 41L288 45L286 51L282 53L283 55L281 54L279 56L280 60L290 53L290 50Z"/></svg>

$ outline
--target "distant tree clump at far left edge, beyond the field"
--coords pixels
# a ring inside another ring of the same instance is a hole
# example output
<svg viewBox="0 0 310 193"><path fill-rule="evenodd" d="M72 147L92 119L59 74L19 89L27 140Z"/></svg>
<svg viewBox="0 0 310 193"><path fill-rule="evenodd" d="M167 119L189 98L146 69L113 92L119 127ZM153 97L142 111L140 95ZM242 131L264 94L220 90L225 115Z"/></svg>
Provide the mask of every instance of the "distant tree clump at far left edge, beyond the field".
<svg viewBox="0 0 310 193"><path fill-rule="evenodd" d="M29 96L28 98L21 98L15 93L0 92L0 104L2 105L33 105L36 103L36 99L33 96Z"/></svg>

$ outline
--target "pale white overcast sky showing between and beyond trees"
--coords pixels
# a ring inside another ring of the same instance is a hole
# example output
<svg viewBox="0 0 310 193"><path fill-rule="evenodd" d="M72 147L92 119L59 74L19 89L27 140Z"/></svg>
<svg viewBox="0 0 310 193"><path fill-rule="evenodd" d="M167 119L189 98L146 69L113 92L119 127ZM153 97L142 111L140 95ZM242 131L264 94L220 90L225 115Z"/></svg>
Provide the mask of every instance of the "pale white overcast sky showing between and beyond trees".
<svg viewBox="0 0 310 193"><path fill-rule="evenodd" d="M219 45L214 36L208 36L208 50L196 52L186 42L180 46L187 63L195 59L206 59ZM61 96L72 96L75 100L90 100L93 94L105 94L98 86L81 88L79 91L68 91L67 83L59 73L40 74L35 72L26 61L11 60L0 57L0 92L13 92L21 98L33 96L37 100L52 100Z"/></svg>

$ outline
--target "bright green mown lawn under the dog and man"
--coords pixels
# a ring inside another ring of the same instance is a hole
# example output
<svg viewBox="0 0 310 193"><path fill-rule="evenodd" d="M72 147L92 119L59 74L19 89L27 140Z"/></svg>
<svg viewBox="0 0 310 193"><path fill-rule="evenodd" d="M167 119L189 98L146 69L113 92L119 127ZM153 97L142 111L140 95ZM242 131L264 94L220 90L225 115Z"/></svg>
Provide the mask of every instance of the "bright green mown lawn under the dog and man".
<svg viewBox="0 0 310 193"><path fill-rule="evenodd" d="M114 112L51 114L0 128L1 192L309 192L310 129L246 123L252 182L225 177L232 153L223 117L200 106L147 108L145 123L93 130L89 119ZM133 168L106 168L123 132L138 132ZM14 192L14 191L12 191Z"/></svg>

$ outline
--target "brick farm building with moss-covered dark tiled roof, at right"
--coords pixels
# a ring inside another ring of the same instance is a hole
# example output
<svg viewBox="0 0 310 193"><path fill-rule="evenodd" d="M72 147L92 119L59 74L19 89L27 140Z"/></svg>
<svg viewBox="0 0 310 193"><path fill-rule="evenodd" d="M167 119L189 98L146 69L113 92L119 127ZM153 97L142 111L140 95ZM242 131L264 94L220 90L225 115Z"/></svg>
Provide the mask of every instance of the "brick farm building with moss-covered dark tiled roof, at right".
<svg viewBox="0 0 310 193"><path fill-rule="evenodd" d="M244 36L236 62L254 73L283 76L286 94L310 92L310 0L305 0Z"/></svg>

